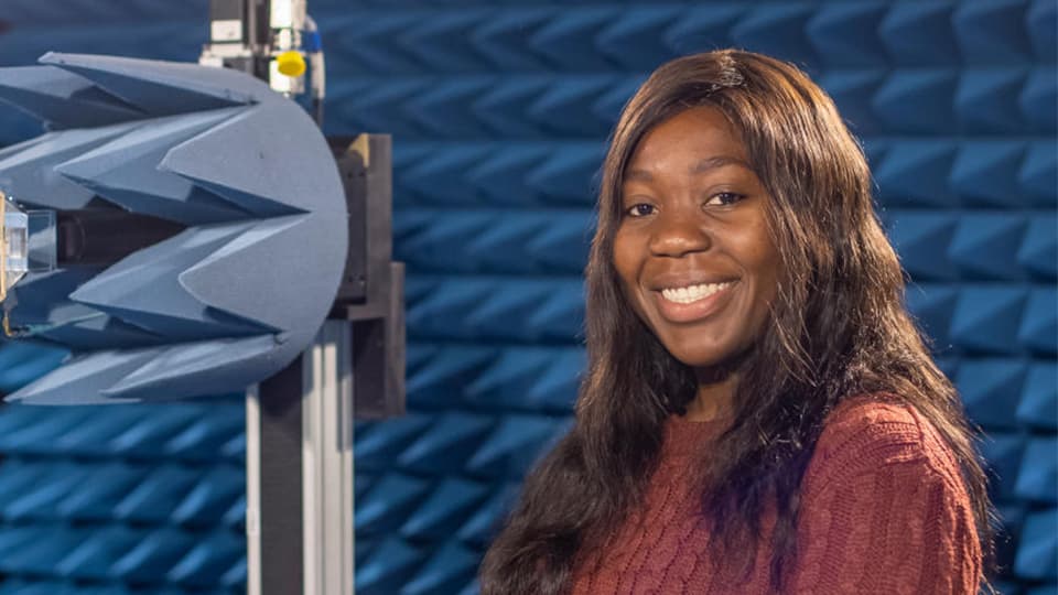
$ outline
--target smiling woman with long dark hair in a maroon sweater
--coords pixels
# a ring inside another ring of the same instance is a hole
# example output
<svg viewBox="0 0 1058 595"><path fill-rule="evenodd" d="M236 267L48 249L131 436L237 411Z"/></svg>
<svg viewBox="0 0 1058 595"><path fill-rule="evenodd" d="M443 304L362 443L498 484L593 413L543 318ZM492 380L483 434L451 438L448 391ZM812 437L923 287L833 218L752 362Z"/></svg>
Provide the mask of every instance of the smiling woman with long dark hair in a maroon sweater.
<svg viewBox="0 0 1058 595"><path fill-rule="evenodd" d="M662 65L603 171L573 430L485 594L975 594L991 505L863 153L789 64Z"/></svg>

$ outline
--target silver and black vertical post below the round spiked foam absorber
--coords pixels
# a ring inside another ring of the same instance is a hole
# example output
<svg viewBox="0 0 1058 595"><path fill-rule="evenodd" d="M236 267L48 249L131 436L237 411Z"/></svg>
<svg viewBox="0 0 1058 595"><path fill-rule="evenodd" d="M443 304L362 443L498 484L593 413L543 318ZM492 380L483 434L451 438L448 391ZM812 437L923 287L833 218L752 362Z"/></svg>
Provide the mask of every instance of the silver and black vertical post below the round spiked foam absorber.
<svg viewBox="0 0 1058 595"><path fill-rule="evenodd" d="M247 595L354 592L350 326L247 391Z"/></svg>

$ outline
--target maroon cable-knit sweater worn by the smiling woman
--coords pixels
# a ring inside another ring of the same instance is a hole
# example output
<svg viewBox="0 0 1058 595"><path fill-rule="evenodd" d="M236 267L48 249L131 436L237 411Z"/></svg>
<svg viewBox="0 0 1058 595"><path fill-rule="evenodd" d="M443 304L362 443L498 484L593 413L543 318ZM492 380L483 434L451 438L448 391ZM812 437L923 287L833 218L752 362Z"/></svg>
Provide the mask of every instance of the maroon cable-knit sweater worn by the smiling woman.
<svg viewBox="0 0 1058 595"><path fill-rule="evenodd" d="M828 416L801 484L787 593L978 593L981 550L958 464L922 415L884 401L857 398ZM603 548L581 553L573 595L773 593L774 508L748 580L709 555L685 469L722 423L669 420L646 501Z"/></svg>

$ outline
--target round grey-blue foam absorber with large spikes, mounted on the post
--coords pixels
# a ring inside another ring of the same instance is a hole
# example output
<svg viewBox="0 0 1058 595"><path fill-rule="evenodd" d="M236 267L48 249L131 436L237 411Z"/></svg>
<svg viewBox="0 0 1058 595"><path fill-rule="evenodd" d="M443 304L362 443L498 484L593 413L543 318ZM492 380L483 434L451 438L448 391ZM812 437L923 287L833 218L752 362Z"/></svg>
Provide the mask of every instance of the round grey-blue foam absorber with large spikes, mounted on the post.
<svg viewBox="0 0 1058 595"><path fill-rule="evenodd" d="M107 268L26 277L13 315L74 355L9 400L218 394L289 364L330 310L348 241L342 181L315 123L235 71L40 62L0 68L0 101L48 130L0 151L0 187L31 206L102 201L184 230Z"/></svg>

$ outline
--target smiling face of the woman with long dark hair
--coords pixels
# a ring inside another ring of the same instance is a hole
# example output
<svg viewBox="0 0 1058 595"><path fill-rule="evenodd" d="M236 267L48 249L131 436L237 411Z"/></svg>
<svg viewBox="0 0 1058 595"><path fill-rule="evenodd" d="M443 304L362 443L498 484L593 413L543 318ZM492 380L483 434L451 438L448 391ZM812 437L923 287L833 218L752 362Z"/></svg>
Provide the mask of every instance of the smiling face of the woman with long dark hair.
<svg viewBox="0 0 1058 595"><path fill-rule="evenodd" d="M770 199L724 116L699 107L649 130L618 199L614 264L666 349L697 368L743 353L775 298Z"/></svg>

